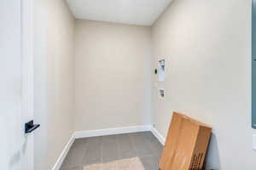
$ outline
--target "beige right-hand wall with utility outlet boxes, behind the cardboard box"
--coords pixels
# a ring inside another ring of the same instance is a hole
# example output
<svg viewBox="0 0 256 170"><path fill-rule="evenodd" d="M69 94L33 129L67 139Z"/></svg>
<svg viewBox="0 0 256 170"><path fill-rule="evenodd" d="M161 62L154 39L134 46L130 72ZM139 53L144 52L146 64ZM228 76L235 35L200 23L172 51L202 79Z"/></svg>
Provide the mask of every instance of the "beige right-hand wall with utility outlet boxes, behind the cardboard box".
<svg viewBox="0 0 256 170"><path fill-rule="evenodd" d="M166 136L172 111L195 117L213 127L207 167L255 169L251 1L174 0L152 38L153 68L166 58L166 81L158 83L166 99L160 101L154 88L156 129Z"/></svg>

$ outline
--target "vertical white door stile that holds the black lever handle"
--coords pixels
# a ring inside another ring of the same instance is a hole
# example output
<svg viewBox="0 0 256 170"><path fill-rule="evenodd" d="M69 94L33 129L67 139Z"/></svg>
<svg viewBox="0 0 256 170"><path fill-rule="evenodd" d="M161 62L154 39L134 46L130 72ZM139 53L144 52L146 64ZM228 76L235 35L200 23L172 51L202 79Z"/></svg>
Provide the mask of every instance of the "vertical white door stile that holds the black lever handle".
<svg viewBox="0 0 256 170"><path fill-rule="evenodd" d="M33 170L33 134L25 134L25 123L33 119L33 0L20 0L21 127L24 152L21 169Z"/></svg>

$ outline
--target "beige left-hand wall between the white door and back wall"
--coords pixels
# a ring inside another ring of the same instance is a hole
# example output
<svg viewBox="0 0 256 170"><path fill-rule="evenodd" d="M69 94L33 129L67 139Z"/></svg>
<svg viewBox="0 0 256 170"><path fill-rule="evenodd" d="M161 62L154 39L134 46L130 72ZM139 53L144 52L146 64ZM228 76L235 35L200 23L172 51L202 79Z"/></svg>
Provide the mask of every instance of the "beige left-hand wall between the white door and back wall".
<svg viewBox="0 0 256 170"><path fill-rule="evenodd" d="M73 15L65 1L34 1L34 169L51 169L73 133Z"/></svg>

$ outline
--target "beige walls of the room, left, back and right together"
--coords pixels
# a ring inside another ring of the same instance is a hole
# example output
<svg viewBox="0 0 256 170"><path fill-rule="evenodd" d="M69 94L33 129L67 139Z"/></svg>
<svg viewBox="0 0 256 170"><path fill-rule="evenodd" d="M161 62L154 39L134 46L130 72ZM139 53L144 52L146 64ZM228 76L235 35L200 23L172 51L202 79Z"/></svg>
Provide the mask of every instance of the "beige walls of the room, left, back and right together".
<svg viewBox="0 0 256 170"><path fill-rule="evenodd" d="M207 167L256 166L250 127L250 1L174 0L151 31L74 21L61 0L35 3L34 107L35 121L42 124L35 133L35 169L54 165L73 122L77 131L152 122L166 136L172 111L213 127ZM156 85L153 69L162 58L166 81ZM159 99L157 88L165 88L165 99Z"/></svg>

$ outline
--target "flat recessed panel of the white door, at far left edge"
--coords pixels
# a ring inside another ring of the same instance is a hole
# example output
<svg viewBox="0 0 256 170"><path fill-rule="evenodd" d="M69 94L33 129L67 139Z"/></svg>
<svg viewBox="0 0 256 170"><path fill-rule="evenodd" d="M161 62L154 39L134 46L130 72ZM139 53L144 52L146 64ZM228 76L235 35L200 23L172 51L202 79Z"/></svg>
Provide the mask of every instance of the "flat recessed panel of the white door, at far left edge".
<svg viewBox="0 0 256 170"><path fill-rule="evenodd" d="M20 2L0 1L0 165L5 170L19 170L24 161L20 111L23 106L20 102L20 8Z"/></svg>

